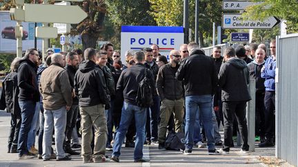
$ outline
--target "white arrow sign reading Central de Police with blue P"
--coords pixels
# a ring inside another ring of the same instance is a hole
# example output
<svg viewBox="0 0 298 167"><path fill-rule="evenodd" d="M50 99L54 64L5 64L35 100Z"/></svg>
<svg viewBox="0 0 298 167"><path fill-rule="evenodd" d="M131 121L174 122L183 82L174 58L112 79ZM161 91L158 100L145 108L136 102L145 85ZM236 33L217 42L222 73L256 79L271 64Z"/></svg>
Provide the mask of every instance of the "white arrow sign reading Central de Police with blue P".
<svg viewBox="0 0 298 167"><path fill-rule="evenodd" d="M223 14L222 27L224 29L271 29L280 22L275 16L270 16L264 21L245 20L241 14Z"/></svg>

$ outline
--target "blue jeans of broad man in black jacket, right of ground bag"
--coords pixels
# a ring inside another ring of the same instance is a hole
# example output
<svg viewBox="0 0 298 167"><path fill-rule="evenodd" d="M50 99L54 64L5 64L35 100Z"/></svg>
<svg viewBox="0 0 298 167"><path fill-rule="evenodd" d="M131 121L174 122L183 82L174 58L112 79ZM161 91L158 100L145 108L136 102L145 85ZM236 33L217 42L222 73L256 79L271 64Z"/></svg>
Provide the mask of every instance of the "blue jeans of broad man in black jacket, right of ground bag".
<svg viewBox="0 0 298 167"><path fill-rule="evenodd" d="M199 110L198 110L199 107ZM205 126L206 137L208 140L208 150L215 149L215 139L213 137L213 122L212 122L212 96L186 96L186 148L192 150L193 133L195 125L195 115L199 113L203 125Z"/></svg>

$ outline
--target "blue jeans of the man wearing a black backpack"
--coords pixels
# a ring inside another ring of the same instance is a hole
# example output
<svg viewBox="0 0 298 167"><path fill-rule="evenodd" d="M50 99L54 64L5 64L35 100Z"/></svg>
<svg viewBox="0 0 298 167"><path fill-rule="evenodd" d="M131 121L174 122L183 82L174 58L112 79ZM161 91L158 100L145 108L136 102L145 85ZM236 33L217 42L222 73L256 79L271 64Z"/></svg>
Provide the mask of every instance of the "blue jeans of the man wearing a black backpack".
<svg viewBox="0 0 298 167"><path fill-rule="evenodd" d="M137 129L134 159L141 159L143 157L143 143L145 141L145 126L147 118L146 108L128 104L127 102L124 102L123 105L120 126L119 129L117 129L112 156L120 156L120 149L123 144L124 137L132 117L134 116Z"/></svg>

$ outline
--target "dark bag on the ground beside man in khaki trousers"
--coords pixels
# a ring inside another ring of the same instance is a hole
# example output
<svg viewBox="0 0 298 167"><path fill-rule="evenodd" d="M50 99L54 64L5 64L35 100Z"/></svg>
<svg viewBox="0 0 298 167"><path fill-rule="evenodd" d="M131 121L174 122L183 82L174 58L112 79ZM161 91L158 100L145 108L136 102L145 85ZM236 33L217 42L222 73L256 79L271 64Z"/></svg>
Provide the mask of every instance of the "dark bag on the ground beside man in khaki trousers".
<svg viewBox="0 0 298 167"><path fill-rule="evenodd" d="M180 151L185 149L184 133L170 131L166 137L165 148L170 151Z"/></svg>

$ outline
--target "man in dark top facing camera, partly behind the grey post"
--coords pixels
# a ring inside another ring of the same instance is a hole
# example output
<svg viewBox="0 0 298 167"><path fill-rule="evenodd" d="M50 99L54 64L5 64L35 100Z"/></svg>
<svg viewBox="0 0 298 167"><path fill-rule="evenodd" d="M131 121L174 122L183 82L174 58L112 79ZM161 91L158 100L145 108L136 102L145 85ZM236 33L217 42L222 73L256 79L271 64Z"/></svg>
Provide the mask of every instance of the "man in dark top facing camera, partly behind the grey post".
<svg viewBox="0 0 298 167"><path fill-rule="evenodd" d="M264 49L258 48L255 52L255 60L248 64L251 79L256 80L256 103L255 103L255 134L265 142L265 78L261 78L261 68L264 67L266 53Z"/></svg>

